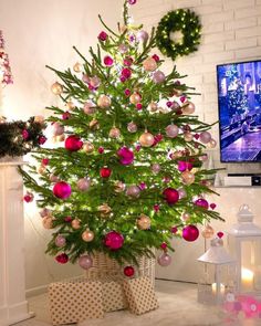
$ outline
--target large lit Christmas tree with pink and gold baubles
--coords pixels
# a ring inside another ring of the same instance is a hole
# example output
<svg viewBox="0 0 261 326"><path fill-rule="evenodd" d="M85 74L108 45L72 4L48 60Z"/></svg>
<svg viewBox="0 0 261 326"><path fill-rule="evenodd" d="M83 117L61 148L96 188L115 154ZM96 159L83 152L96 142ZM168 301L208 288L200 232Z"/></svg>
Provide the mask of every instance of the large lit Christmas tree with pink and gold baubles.
<svg viewBox="0 0 261 326"><path fill-rule="evenodd" d="M74 48L73 70L52 69L60 80L51 90L65 105L48 107L59 145L38 150L38 165L21 171L53 230L46 252L60 263L88 269L103 252L135 264L161 248L158 262L168 265L173 236L195 241L197 223L221 219L205 198L215 170L200 169L206 146L216 145L211 126L194 115L194 88L176 67L160 70L155 31L129 23L135 2L125 1L117 32L100 17L91 60Z"/></svg>

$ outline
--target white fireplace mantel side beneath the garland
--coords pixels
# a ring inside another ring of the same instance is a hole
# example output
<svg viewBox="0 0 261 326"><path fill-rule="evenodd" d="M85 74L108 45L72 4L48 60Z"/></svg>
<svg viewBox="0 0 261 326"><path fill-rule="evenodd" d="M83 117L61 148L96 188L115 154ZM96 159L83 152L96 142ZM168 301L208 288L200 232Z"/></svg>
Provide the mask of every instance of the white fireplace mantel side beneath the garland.
<svg viewBox="0 0 261 326"><path fill-rule="evenodd" d="M32 317L25 299L23 186L18 159L0 160L0 325Z"/></svg>

